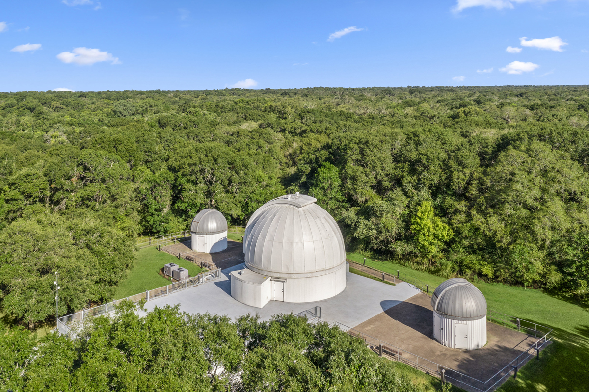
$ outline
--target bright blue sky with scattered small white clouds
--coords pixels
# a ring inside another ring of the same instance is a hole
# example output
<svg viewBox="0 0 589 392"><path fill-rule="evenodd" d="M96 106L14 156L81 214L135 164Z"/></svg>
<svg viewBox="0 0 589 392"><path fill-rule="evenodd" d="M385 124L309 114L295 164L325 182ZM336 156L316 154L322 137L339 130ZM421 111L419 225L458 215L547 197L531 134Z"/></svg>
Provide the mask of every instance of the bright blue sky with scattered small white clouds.
<svg viewBox="0 0 589 392"><path fill-rule="evenodd" d="M579 85L588 70L587 0L0 7L0 91Z"/></svg>

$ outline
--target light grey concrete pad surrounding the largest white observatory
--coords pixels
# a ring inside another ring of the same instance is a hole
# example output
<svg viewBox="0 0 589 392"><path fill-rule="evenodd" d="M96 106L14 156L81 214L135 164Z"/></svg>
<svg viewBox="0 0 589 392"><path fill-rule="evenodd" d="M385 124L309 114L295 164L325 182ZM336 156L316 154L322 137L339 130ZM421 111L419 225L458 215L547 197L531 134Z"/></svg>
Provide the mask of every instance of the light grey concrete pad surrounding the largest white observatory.
<svg viewBox="0 0 589 392"><path fill-rule="evenodd" d="M257 313L262 320L269 320L272 315L277 313L289 314L292 312L296 314L320 306L322 320L353 327L419 293L417 288L408 283L403 282L393 286L347 273L346 289L335 297L323 301L297 304L270 301L263 308L256 308L234 300L230 294L229 274L231 271L244 268L244 265L239 264L223 270L221 277L217 280L148 301L145 308L151 311L155 306L179 304L181 311L192 314L209 312L237 318L248 313Z"/></svg>

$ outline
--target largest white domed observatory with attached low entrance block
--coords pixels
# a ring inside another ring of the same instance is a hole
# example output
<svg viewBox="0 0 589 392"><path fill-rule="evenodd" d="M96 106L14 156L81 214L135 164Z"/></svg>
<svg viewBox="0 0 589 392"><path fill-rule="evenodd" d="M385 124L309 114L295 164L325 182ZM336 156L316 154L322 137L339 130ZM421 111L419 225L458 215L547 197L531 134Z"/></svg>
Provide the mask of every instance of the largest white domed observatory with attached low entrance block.
<svg viewBox="0 0 589 392"><path fill-rule="evenodd" d="M255 307L270 300L325 300L346 288L346 250L336 221L307 195L258 208L243 237L246 269L231 272L231 296Z"/></svg>

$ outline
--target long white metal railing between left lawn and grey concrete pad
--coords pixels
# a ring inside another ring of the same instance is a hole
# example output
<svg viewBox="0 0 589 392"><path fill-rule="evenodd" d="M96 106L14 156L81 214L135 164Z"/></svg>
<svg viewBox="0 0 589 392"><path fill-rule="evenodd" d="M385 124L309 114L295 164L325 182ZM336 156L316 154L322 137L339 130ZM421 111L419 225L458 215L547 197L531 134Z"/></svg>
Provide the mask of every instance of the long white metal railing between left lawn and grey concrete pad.
<svg viewBox="0 0 589 392"><path fill-rule="evenodd" d="M216 268L215 270L205 271L204 273L200 273L194 277L176 283L154 288L153 290L145 290L144 293L131 295L130 297L121 300L112 301L90 309L81 310L77 313L68 314L57 319L57 330L59 333L67 334L71 328L82 323L82 321L87 320L88 317L97 317L99 315L111 313L122 301L131 301L132 303L138 303L141 300L151 301L155 298L162 297L163 295L176 293L177 291L186 290L187 288L215 280L220 276L221 268Z"/></svg>

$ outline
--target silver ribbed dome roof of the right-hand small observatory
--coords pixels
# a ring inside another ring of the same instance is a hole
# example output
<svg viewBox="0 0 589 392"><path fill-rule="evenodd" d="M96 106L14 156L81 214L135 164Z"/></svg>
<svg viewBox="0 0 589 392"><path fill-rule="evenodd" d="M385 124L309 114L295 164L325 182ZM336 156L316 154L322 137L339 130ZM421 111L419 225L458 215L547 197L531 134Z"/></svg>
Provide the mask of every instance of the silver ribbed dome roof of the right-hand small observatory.
<svg viewBox="0 0 589 392"><path fill-rule="evenodd" d="M436 313L454 320L479 320L487 315L485 296L462 278L448 279L436 287L432 307Z"/></svg>

